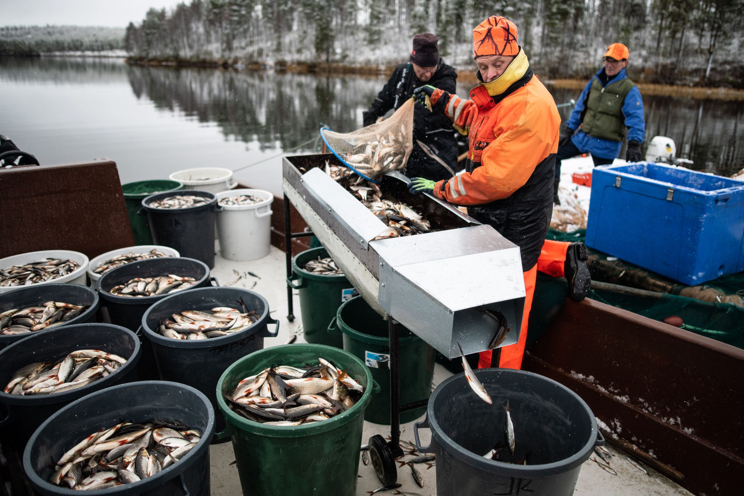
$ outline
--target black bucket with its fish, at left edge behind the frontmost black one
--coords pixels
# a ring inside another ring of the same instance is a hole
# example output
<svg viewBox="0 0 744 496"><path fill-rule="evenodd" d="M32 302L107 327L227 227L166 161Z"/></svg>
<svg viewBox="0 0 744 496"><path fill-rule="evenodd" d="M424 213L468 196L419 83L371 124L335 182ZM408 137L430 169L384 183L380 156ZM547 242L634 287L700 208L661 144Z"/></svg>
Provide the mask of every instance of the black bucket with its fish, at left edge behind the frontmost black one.
<svg viewBox="0 0 744 496"><path fill-rule="evenodd" d="M105 387L136 379L137 336L106 323L81 323L31 335L0 351L0 421L22 448L48 417Z"/></svg>

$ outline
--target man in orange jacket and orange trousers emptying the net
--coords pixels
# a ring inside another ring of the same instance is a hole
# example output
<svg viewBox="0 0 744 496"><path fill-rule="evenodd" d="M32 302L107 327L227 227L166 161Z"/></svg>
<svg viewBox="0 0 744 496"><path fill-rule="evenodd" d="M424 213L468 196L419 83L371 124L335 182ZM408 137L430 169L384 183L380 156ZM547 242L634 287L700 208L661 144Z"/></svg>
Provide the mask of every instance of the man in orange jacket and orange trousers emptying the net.
<svg viewBox="0 0 744 496"><path fill-rule="evenodd" d="M411 193L432 193L466 205L470 216L519 245L527 293L519 342L481 352L478 360L481 368L519 369L536 272L565 276L569 296L582 300L589 289L589 269L583 243L545 240L553 213L560 127L553 97L517 45L513 22L490 16L472 34L481 83L470 91L470 100L433 86L414 91L422 101L428 96L434 112L444 112L455 129L469 135L466 172L438 182L414 178L408 187Z"/></svg>

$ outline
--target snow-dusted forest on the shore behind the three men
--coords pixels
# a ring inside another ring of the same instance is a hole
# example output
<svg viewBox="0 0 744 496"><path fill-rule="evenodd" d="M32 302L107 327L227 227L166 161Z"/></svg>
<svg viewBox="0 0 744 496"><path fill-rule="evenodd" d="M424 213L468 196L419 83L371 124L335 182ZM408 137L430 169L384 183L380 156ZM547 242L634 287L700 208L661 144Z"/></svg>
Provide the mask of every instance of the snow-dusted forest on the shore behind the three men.
<svg viewBox="0 0 744 496"><path fill-rule="evenodd" d="M501 14L547 77L586 77L619 41L637 80L742 87L743 9L744 0L193 0L150 9L126 28L125 46L147 59L391 65L429 31L446 62L470 68L472 28Z"/></svg>

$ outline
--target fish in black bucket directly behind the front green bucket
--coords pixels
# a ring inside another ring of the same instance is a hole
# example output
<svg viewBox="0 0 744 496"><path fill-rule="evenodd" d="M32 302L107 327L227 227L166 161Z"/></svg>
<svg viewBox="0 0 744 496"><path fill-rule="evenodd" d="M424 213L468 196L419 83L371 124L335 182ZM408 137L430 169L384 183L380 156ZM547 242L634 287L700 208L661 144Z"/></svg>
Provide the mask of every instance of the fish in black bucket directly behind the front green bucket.
<svg viewBox="0 0 744 496"><path fill-rule="evenodd" d="M256 310L248 312L243 305L243 312L227 306L218 306L211 309L211 313L184 310L171 317L173 320L164 318L160 321L158 332L166 338L193 340L231 335L252 326L261 316Z"/></svg>

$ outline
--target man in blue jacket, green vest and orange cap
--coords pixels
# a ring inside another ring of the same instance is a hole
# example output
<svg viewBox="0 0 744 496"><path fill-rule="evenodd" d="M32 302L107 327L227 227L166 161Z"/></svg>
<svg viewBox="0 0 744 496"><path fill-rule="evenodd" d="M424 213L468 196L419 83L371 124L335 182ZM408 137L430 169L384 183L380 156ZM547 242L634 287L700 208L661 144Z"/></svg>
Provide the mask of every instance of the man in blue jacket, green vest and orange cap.
<svg viewBox="0 0 744 496"><path fill-rule="evenodd" d="M646 137L644 102L638 86L626 77L628 56L628 48L622 43L609 45L603 57L605 66L586 84L574 112L562 127L556 155L554 204L560 204L558 183L564 158L589 152L595 166L612 164L620 155L627 128L625 159L641 160L641 144Z"/></svg>

